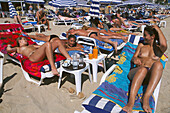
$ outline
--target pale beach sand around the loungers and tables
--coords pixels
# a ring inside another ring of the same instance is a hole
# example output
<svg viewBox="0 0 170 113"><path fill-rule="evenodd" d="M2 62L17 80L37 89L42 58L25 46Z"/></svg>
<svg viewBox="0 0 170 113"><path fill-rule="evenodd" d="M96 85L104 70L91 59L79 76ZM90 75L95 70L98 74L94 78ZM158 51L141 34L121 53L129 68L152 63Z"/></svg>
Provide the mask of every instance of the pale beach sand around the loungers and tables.
<svg viewBox="0 0 170 113"><path fill-rule="evenodd" d="M13 19L0 18L0 23L5 20ZM165 19L166 28L161 28L168 43L170 45L170 18ZM50 21L51 30L43 32L46 35L60 35L66 32L71 26L57 25L53 26ZM35 34L31 32L28 34ZM170 56L170 48L165 52ZM19 65L6 61L4 63L3 87L0 91L0 113L73 113L75 110L82 111L81 104L84 100L73 98L64 87L75 87L74 77L63 77L62 87L58 89L58 77L45 79L45 84L38 86L37 84L28 82ZM161 88L159 92L156 113L170 113L170 63L168 62L163 71ZM102 71L98 72L97 83L89 81L88 73L82 74L82 92L88 98L92 92L99 86L100 79L103 75Z"/></svg>

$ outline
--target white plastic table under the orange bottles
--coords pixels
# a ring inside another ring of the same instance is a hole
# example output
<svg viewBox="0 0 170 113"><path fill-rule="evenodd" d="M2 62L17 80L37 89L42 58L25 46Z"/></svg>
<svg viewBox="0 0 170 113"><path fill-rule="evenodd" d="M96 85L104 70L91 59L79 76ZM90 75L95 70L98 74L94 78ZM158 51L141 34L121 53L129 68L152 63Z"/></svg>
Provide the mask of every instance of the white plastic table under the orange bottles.
<svg viewBox="0 0 170 113"><path fill-rule="evenodd" d="M99 55L97 59L89 59L85 58L85 62L92 64L92 69L93 69L93 81L97 82L97 71L98 71L98 63L103 61L103 67L104 67L104 72L106 72L106 66L105 66L105 55Z"/></svg>

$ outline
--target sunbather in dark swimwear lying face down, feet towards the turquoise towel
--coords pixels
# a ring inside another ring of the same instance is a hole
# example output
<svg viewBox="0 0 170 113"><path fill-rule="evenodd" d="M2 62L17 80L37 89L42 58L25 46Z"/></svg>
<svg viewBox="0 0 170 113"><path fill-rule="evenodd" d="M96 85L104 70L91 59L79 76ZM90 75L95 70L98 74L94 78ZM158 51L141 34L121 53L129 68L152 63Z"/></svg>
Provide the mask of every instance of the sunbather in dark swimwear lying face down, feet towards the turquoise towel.
<svg viewBox="0 0 170 113"><path fill-rule="evenodd" d="M120 36L105 36L105 35L100 35L98 34L97 32L92 32L91 30L83 30L83 29L73 29L71 28L68 32L67 32L67 35L68 34L71 34L71 35L79 35L79 36L86 36L86 37L91 37L91 38L94 38L94 39L97 39L99 41L103 41L103 42L106 42L106 43L109 43L111 44L114 48L115 48L115 52L117 53L117 42L112 42L111 38L113 39L126 39L126 37L120 37Z"/></svg>

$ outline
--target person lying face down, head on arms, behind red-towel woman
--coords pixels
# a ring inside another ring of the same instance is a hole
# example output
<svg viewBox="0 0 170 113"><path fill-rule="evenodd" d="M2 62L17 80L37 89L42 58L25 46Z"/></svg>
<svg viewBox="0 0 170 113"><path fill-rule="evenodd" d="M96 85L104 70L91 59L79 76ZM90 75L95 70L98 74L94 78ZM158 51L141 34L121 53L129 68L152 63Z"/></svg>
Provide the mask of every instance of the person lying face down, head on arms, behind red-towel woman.
<svg viewBox="0 0 170 113"><path fill-rule="evenodd" d="M36 34L36 35L29 35L29 36L32 39L42 40L45 42L53 42L55 40L60 40L57 35L44 35L42 33ZM71 50L83 51L81 48L84 48L84 47L76 43L76 37L74 35L69 35L68 40L60 40L60 41L66 48L66 51L71 51Z"/></svg>

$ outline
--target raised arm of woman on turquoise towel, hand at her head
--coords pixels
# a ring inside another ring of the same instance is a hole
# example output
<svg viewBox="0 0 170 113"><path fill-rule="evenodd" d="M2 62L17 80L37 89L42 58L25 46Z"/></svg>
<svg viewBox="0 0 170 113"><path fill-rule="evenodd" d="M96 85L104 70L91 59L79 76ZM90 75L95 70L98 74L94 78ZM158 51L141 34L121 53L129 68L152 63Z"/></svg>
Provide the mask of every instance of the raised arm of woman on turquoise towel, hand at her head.
<svg viewBox="0 0 170 113"><path fill-rule="evenodd" d="M159 35L160 49L164 53L167 50L167 41L162 33L161 29L157 25L153 25L153 27L157 30Z"/></svg>

